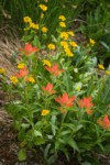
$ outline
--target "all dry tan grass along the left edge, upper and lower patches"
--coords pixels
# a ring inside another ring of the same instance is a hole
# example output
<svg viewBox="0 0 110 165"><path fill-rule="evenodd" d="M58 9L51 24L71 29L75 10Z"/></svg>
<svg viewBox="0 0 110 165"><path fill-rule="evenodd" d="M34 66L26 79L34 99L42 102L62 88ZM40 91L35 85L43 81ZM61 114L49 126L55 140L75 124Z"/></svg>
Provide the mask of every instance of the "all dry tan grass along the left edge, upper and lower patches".
<svg viewBox="0 0 110 165"><path fill-rule="evenodd" d="M0 67L6 68L7 77L14 75L16 72L15 63L19 56L16 55L15 59L12 61L12 55L18 52L18 48L21 46L22 44L15 28L11 28L8 23L0 24ZM6 96L7 94L4 94L0 87L0 125L4 123L8 124L11 121L11 118L2 107L6 103Z"/></svg>

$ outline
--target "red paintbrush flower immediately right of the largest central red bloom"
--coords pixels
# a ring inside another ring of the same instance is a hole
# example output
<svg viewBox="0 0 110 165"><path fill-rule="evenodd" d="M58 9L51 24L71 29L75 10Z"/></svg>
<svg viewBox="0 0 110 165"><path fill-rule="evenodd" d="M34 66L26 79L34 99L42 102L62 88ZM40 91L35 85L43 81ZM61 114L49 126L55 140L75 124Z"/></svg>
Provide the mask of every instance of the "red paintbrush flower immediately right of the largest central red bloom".
<svg viewBox="0 0 110 165"><path fill-rule="evenodd" d="M78 106L79 108L90 109L94 106L94 103L91 102L91 97L85 97L84 99L79 100Z"/></svg>

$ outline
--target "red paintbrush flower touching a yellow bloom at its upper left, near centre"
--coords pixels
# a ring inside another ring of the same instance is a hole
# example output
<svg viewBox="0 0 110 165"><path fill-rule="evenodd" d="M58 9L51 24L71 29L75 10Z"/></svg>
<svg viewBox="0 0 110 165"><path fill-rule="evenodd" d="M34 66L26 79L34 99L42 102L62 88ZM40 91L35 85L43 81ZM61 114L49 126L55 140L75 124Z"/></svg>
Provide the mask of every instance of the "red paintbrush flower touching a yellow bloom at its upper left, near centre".
<svg viewBox="0 0 110 165"><path fill-rule="evenodd" d="M46 70L48 70L50 73L52 73L55 76L58 76L59 74L64 73L63 69L58 68L58 65L55 63L53 64L52 67L45 66Z"/></svg>

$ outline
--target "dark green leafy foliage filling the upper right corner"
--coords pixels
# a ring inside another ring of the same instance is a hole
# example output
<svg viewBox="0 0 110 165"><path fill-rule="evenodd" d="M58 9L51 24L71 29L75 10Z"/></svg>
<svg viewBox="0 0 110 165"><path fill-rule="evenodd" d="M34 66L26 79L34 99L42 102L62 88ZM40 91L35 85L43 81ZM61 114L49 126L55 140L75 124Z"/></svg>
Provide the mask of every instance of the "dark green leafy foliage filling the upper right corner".
<svg viewBox="0 0 110 165"><path fill-rule="evenodd" d="M86 24L80 25L81 32L97 41L96 50L98 61L107 66L110 59L110 4L109 1L88 1L85 7L84 18ZM98 48L99 47L99 48ZM99 55L100 54L100 55Z"/></svg>

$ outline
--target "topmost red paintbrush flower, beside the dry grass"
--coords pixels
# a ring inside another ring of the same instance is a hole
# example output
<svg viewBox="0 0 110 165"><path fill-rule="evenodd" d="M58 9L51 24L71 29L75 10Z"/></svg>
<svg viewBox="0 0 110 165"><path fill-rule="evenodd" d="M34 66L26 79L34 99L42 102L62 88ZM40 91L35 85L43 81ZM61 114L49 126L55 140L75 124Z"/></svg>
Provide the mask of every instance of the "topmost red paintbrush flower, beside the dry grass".
<svg viewBox="0 0 110 165"><path fill-rule="evenodd" d="M35 52L37 52L40 48L36 48L32 46L31 44L26 43L24 48L21 48L20 52L22 52L24 55L31 55Z"/></svg>

